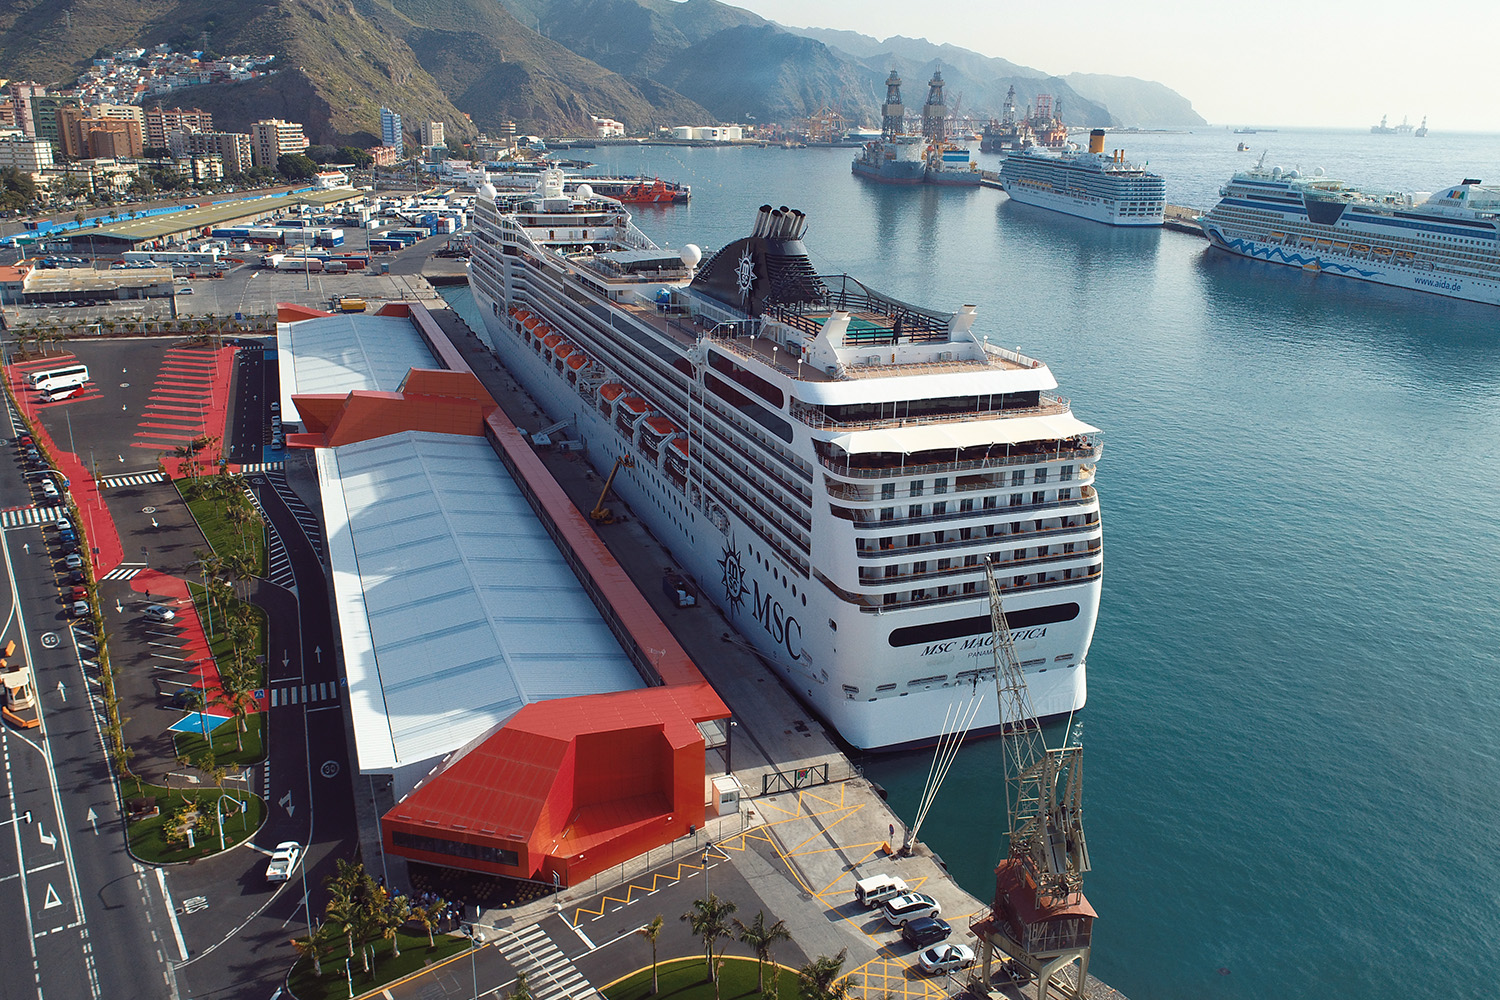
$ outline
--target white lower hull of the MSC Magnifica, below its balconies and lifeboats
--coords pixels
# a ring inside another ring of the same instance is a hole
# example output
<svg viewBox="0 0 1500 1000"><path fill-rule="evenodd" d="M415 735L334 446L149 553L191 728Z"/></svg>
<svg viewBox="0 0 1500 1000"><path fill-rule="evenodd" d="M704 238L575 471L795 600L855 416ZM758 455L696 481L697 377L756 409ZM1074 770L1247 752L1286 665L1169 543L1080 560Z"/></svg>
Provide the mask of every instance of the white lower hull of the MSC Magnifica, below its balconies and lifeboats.
<svg viewBox="0 0 1500 1000"><path fill-rule="evenodd" d="M614 423L525 346L508 319L510 303L471 285L484 337L501 363L546 411L570 420L568 438L608 474L638 454ZM518 303L534 307L534 303ZM800 586L753 547L754 531L734 511L714 526L640 462L622 468L614 492L716 604L740 637L848 744L872 751L921 747L956 727L978 700L972 730L1002 726L993 673L988 601L984 598L866 613L807 580ZM1068 715L1088 697L1086 657L1098 618L1101 576L1008 595L1012 643L1040 718ZM968 672L969 678L964 679ZM1011 723L1014 720L1004 720Z"/></svg>

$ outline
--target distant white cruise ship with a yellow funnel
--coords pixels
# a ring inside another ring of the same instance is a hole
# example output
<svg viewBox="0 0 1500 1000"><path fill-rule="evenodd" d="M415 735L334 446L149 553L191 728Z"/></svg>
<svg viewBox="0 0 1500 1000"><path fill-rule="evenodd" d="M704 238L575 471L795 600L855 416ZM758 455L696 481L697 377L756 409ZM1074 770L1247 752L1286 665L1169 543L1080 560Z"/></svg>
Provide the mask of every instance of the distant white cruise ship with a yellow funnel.
<svg viewBox="0 0 1500 1000"><path fill-rule="evenodd" d="M1005 157L1000 186L1016 201L1112 226L1160 226L1167 183L1160 174L1125 162L1124 150L1104 153L1104 129L1089 133L1089 151L1028 148Z"/></svg>

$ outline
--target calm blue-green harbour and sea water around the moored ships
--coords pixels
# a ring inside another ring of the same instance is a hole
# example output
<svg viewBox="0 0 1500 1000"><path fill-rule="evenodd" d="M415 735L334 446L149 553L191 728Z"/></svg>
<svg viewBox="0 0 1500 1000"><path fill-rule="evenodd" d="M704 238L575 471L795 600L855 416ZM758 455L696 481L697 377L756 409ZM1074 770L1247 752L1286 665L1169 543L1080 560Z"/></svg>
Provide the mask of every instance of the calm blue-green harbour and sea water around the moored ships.
<svg viewBox="0 0 1500 1000"><path fill-rule="evenodd" d="M1236 153L1238 142L1254 148ZM1113 135L1208 208L1266 163L1401 190L1500 181L1500 136ZM1089 655L1094 973L1132 1000L1478 997L1500 969L1500 309L1244 261L998 190L882 187L854 150L597 148L693 186L657 243L808 214L825 273L1044 358L1104 429ZM994 166L994 157L980 157ZM466 298L466 292L458 295ZM915 813L930 754L867 757ZM920 837L981 900L996 741Z"/></svg>

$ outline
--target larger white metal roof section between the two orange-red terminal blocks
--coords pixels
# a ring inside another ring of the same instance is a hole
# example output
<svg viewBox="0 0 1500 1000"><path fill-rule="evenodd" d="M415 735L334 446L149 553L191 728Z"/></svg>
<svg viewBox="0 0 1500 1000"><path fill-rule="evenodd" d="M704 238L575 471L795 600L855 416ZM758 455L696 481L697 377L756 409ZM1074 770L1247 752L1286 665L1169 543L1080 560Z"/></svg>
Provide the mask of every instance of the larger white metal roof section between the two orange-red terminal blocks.
<svg viewBox="0 0 1500 1000"><path fill-rule="evenodd" d="M483 438L318 451L362 771L453 751L522 705L644 687Z"/></svg>

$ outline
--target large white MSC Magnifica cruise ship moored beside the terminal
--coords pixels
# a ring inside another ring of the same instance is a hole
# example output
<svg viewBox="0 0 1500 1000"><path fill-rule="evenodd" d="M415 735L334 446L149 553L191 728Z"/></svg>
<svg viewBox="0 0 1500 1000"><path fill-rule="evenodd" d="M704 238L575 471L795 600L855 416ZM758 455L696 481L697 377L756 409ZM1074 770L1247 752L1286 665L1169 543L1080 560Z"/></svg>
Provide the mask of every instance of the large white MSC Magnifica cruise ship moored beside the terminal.
<svg viewBox="0 0 1500 1000"><path fill-rule="evenodd" d="M819 274L800 211L747 229L660 249L554 171L480 189L470 286L546 420L849 744L933 742L975 700L975 732L1002 723L986 561L1038 712L1082 708L1098 429L974 306Z"/></svg>

